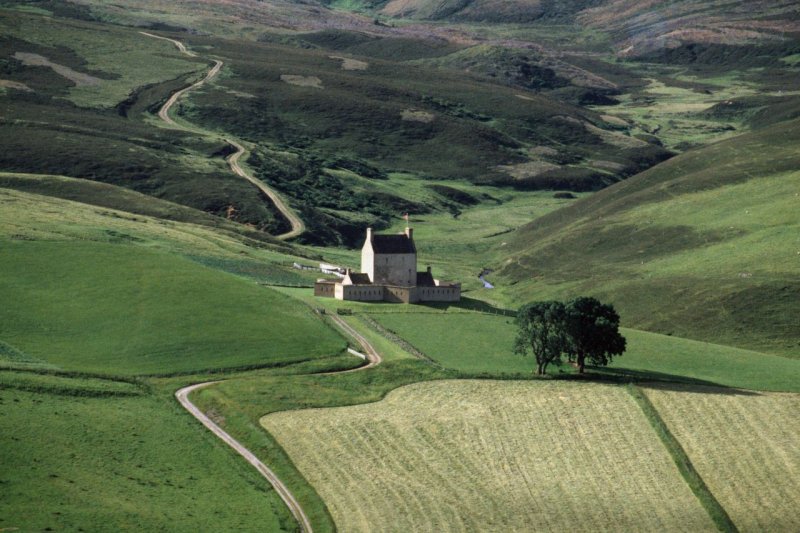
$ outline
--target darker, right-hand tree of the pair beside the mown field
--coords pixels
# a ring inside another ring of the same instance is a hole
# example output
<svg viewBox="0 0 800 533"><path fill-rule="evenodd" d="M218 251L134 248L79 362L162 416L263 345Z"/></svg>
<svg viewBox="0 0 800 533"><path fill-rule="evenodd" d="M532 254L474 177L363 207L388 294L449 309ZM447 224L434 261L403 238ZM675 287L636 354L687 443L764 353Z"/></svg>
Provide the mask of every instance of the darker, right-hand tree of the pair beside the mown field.
<svg viewBox="0 0 800 533"><path fill-rule="evenodd" d="M619 333L619 315L610 304L582 296L564 307L567 353L578 363L583 374L588 359L592 364L605 366L615 355L625 351L625 337Z"/></svg>

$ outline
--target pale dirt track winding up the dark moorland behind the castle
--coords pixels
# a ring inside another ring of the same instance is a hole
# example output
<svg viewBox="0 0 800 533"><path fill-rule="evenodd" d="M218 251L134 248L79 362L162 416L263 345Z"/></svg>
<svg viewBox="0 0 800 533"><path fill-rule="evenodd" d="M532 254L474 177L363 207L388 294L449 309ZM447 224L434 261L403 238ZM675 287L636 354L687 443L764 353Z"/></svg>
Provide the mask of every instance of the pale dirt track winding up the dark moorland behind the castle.
<svg viewBox="0 0 800 533"><path fill-rule="evenodd" d="M146 36L146 37L152 37L154 39L161 39L161 40L164 40L164 41L169 41L172 44L174 44L182 54L184 54L186 56L189 56L189 57L197 57L197 54L195 54L194 52L188 50L186 48L186 46L180 41L177 41L175 39L170 39L169 37L162 37L160 35L153 35L152 33L147 33L147 32L144 32L144 31L140 31L139 33L144 35L144 36ZM222 61L218 60L218 59L214 59L212 61L214 61L214 66L211 67L211 69L208 71L208 73L206 73L206 75L203 77L203 79L201 79L198 82L193 83L192 85L190 85L188 87L184 87L183 89L181 89L179 91L175 91L172 94L172 96L170 96L169 99L164 103L164 105L161 106L161 109L158 110L159 118L161 120L163 120L166 124L172 126L173 128L177 128L177 129L181 129L181 130L189 131L189 132L193 132L193 133L209 133L209 132L207 132L207 131L205 131L205 130L203 130L201 128L193 128L193 127L190 127L190 126L186 126L184 124L178 124L169 115L169 111L172 108L172 106L175 105L175 103L184 94L186 94L189 91L192 91L192 90L200 87L204 83L206 83L209 80L211 80L212 78L214 78L217 74L219 74L219 71L220 71L220 69L222 69L222 65L224 63ZM300 219L300 217L298 217L297 214L286 204L286 202L283 200L283 198L280 196L280 194L278 194L278 192L275 191L274 189L268 187L264 182L262 182L261 180L259 180L255 176L253 176L253 175L249 174L248 172L246 172L241 167L241 165L239 164L239 158L241 158L242 155L247 153L247 150L245 149L245 147L242 146L242 144L239 141L237 141L235 139L232 139L230 137L225 137L224 141L226 143L230 144L236 150L236 152L234 152L233 154L231 154L227 158L228 166L230 167L231 172L233 172L237 176L240 176L240 177L246 179L251 184L256 186L258 188L258 190L260 190L262 193L264 193L267 196L267 198L270 199L270 201L273 203L275 208L278 211L280 211L280 213L286 218L286 220L289 221L289 225L291 226L292 229L290 229L286 233L282 233L280 235L276 235L275 237L285 241L285 240L288 240L288 239L293 239L293 238L301 235L303 232L305 232L305 230L306 230L305 224Z"/></svg>

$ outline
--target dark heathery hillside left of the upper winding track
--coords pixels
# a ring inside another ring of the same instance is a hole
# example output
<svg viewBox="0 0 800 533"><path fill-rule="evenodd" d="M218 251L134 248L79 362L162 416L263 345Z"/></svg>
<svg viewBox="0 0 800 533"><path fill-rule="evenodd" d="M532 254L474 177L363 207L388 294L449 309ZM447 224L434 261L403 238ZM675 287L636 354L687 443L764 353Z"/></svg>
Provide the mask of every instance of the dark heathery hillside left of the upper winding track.
<svg viewBox="0 0 800 533"><path fill-rule="evenodd" d="M277 233L285 221L224 162L229 147L148 122L205 73L163 40L0 9L0 170L91 179Z"/></svg>

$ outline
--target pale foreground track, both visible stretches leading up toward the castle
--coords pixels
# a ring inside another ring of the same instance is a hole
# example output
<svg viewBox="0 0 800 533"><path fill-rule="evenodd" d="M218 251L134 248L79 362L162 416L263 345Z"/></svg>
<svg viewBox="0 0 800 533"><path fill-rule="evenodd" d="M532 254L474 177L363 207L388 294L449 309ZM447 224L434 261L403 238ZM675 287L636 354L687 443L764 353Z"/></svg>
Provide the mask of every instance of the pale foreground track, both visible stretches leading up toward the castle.
<svg viewBox="0 0 800 533"><path fill-rule="evenodd" d="M358 331L356 331L352 326L350 326L348 323L346 323L338 316L331 315L331 319L345 333L352 336L358 341L358 343L361 345L362 349L365 352L367 364L350 370L342 370L339 372L327 372L326 373L327 375L345 374L348 372L359 372L377 366L383 361L380 354L377 352L377 350L375 350L375 347L372 346L372 344L366 338L364 338L363 335L358 333ZM351 353L353 352L351 351ZM359 354L359 357L360 356L361 355ZM233 448L236 451L236 453L244 457L248 463L253 465L253 467L256 470L258 470L258 472L262 476L264 476L264 478L266 478L267 481L269 481L270 485L272 485L272 487L275 489L275 492L277 492L278 495L281 497L283 502L289 508L289 511L291 511L292 516L294 516L295 520L297 520L297 523L300 524L300 529L305 533L313 533L313 528L311 527L311 521L308 519L308 516L306 515L305 511L303 511L303 508L300 506L300 503L298 503L297 499L291 493L289 488L283 483L283 481L280 480L280 478L278 478L275 472L273 472L267 465L261 462L261 460L258 457L256 457L253 452L245 448L244 445L242 445L242 443L234 439L228 432L219 427L219 425L217 425L205 413L203 413L203 411L201 411L195 404L193 404L191 400L189 400L189 394L191 394L193 391L209 387L216 383L220 383L220 381L207 381L204 383L189 385L188 387L183 387L182 389L179 389L177 392L175 392L175 398L178 399L178 402L180 402L180 404L187 411L189 411L189 413L191 413L192 416L194 416L204 426L206 426L209 430L211 430L211 432L214 433L214 435L219 437L223 442L225 442L225 444Z"/></svg>

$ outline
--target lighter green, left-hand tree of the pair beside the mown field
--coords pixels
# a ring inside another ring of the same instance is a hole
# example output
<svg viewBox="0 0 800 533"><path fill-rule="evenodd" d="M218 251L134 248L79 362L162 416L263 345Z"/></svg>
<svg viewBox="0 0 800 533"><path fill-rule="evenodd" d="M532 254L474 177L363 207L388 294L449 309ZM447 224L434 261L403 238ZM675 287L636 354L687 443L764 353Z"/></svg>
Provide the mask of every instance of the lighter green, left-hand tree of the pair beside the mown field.
<svg viewBox="0 0 800 533"><path fill-rule="evenodd" d="M568 348L566 313L561 302L534 302L517 312L517 339L514 352L536 358L536 373L544 375L547 365L560 361Z"/></svg>

